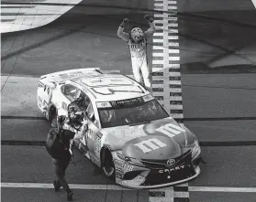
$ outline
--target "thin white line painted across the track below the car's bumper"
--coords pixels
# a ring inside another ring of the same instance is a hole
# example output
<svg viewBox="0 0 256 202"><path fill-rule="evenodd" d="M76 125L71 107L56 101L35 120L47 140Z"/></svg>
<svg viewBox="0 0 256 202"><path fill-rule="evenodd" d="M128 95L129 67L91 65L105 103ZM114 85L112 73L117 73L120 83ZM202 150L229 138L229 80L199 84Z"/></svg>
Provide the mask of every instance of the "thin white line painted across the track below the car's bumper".
<svg viewBox="0 0 256 202"><path fill-rule="evenodd" d="M88 190L128 190L122 186L115 185L82 185L82 184L70 184L73 189L88 189ZM1 187L8 188L53 188L52 184L48 183L1 183ZM168 188L163 188L167 190ZM228 186L188 186L189 192L237 192L237 193L256 193L256 187L228 187Z"/></svg>

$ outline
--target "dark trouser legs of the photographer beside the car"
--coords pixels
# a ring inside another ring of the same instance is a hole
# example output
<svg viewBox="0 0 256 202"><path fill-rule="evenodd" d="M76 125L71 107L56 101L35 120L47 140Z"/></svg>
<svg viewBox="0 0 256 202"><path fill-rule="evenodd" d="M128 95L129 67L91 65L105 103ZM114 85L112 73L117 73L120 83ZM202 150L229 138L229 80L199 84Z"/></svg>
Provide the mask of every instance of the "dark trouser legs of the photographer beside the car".
<svg viewBox="0 0 256 202"><path fill-rule="evenodd" d="M58 177L56 186L62 186L66 191L70 189L65 179L65 172L68 166L70 165L70 161L71 161L70 155L67 155L66 158L63 158L63 159L52 158L52 165L54 167L54 172Z"/></svg>

